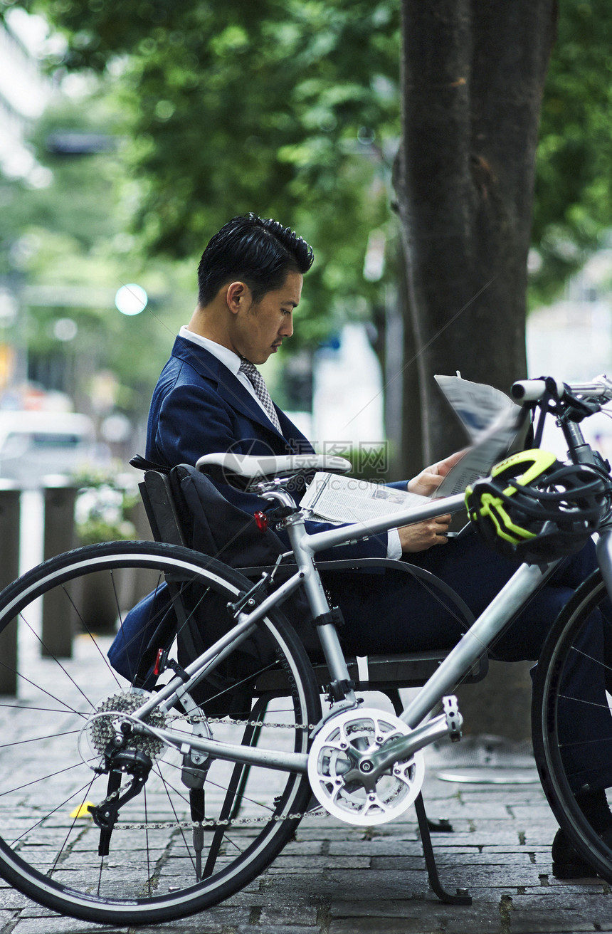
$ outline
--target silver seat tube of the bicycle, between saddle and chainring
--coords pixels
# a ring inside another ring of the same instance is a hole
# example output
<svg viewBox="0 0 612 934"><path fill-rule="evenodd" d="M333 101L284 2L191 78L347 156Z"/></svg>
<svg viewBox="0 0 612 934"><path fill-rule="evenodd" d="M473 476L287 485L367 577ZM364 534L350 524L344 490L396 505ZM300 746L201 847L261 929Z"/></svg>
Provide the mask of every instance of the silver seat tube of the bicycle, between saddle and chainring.
<svg viewBox="0 0 612 934"><path fill-rule="evenodd" d="M312 617L317 619L320 616L325 616L330 612L330 605L321 584L312 552L307 546L308 533L306 532L304 518L296 517L294 521L288 523L287 532L292 543L297 566L300 573L304 575L304 588ZM332 680L338 682L349 681L349 669L334 623L319 624L317 630L320 646ZM352 696L352 692L350 692L350 695ZM349 695L347 696L349 697Z"/></svg>

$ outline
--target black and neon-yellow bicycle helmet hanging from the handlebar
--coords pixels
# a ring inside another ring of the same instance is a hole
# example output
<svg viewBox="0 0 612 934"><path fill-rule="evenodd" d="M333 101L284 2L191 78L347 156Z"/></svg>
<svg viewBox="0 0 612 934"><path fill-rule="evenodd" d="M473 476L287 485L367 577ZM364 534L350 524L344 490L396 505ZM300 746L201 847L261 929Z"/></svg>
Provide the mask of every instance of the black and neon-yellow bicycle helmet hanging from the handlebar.
<svg viewBox="0 0 612 934"><path fill-rule="evenodd" d="M603 474L562 464L549 451L520 451L465 490L470 519L485 542L528 564L572 555L597 531L608 502Z"/></svg>

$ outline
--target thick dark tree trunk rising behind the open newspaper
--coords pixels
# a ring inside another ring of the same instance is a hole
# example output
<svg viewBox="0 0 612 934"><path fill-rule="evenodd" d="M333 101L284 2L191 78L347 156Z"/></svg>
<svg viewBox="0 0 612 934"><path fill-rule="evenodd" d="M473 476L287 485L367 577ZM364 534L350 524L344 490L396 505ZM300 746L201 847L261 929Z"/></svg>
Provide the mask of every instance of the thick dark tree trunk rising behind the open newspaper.
<svg viewBox="0 0 612 934"><path fill-rule="evenodd" d="M395 188L423 457L464 436L434 384L507 391L525 375L525 291L539 110L555 0L403 0Z"/></svg>

